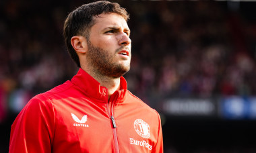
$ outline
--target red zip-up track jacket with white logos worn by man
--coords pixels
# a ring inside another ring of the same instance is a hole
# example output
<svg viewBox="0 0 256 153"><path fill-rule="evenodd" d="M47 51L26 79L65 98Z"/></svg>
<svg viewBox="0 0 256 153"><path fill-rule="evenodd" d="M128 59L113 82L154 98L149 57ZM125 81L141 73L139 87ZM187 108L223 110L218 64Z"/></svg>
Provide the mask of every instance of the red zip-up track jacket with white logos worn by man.
<svg viewBox="0 0 256 153"><path fill-rule="evenodd" d="M11 126L9 152L163 152L158 113L121 89L107 89L84 70L36 95Z"/></svg>

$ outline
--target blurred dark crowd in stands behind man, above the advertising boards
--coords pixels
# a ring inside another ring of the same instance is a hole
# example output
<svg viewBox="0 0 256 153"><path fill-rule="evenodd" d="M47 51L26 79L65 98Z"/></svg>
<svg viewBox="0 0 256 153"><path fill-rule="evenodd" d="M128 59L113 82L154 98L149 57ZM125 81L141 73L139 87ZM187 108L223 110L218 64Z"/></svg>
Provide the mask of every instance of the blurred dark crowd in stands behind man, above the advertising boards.
<svg viewBox="0 0 256 153"><path fill-rule="evenodd" d="M255 3L117 2L130 13L125 79L137 97L157 107L156 97L256 95ZM77 72L62 28L82 3L0 1L0 123Z"/></svg>

